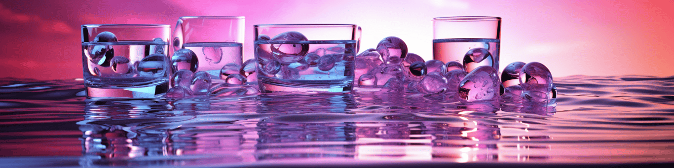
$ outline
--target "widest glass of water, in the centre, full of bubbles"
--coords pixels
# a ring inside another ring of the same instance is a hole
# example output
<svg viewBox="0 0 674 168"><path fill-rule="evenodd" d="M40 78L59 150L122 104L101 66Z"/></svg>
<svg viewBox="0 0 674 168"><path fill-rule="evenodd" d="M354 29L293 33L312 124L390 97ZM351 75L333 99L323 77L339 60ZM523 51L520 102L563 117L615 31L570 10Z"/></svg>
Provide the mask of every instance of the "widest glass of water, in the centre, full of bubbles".
<svg viewBox="0 0 674 168"><path fill-rule="evenodd" d="M348 93L353 89L358 26L255 25L257 82L263 93Z"/></svg>

